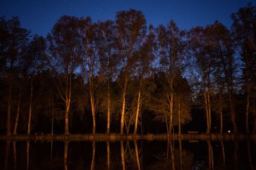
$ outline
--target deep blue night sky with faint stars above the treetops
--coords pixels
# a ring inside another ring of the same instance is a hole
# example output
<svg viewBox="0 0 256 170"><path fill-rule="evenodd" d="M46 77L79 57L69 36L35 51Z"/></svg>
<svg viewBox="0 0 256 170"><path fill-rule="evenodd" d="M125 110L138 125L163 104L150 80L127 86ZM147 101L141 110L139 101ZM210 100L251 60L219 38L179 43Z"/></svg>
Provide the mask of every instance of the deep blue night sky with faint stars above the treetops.
<svg viewBox="0 0 256 170"><path fill-rule="evenodd" d="M230 15L256 0L0 0L0 16L17 16L21 26L45 36L61 15L115 20L116 11L141 10L147 24L174 20L180 29L205 26L219 20L230 27Z"/></svg>

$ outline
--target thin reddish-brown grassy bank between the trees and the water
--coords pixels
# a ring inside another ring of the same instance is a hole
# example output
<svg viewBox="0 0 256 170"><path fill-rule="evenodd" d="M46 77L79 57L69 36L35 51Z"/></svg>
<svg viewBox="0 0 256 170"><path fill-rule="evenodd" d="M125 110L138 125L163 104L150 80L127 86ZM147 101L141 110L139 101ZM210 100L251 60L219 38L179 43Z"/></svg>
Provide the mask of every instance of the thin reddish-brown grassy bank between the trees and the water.
<svg viewBox="0 0 256 170"><path fill-rule="evenodd" d="M232 141L232 140L256 140L256 134L17 134L17 135L0 135L0 141L132 141L132 140L216 140L216 141Z"/></svg>

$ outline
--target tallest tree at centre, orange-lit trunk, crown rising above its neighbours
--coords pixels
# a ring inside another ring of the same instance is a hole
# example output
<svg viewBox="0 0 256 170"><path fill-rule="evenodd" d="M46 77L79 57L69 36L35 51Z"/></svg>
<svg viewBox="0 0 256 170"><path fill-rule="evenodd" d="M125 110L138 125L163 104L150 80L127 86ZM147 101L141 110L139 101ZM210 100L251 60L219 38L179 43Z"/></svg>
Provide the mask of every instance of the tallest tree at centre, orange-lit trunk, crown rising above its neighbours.
<svg viewBox="0 0 256 170"><path fill-rule="evenodd" d="M120 134L124 133L124 116L128 81L134 70L134 52L138 50L147 27L146 20L141 11L129 10L116 13L116 36L118 43L118 56L120 56L120 71L123 83L119 83L122 88L122 109L120 120Z"/></svg>

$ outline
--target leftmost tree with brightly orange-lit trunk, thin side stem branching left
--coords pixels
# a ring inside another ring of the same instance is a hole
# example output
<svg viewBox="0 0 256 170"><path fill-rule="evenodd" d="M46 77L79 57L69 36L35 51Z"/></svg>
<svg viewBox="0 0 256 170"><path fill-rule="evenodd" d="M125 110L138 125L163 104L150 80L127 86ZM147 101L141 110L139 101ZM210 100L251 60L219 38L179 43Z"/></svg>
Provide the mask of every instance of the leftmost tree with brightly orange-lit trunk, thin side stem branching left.
<svg viewBox="0 0 256 170"><path fill-rule="evenodd" d="M79 19L62 16L54 25L47 39L52 66L56 70L56 87L65 102L65 134L68 134L68 113L71 103L72 76L81 63L82 47ZM65 83L58 78L63 75Z"/></svg>

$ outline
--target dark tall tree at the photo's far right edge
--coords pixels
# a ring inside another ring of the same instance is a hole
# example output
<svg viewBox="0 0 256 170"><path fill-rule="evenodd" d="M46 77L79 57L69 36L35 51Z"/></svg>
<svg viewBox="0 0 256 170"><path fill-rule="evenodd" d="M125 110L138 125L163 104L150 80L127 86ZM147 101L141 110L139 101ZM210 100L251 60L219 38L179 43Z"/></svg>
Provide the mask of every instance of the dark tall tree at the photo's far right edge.
<svg viewBox="0 0 256 170"><path fill-rule="evenodd" d="M236 41L243 62L243 80L246 92L245 124L246 132L249 133L250 100L253 89L256 87L256 7L248 4L246 7L240 8L237 13L233 13L231 17L234 41ZM256 121L256 118L254 120ZM254 124L256 124L255 121Z"/></svg>

